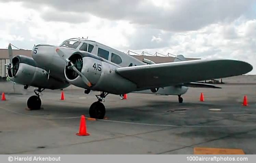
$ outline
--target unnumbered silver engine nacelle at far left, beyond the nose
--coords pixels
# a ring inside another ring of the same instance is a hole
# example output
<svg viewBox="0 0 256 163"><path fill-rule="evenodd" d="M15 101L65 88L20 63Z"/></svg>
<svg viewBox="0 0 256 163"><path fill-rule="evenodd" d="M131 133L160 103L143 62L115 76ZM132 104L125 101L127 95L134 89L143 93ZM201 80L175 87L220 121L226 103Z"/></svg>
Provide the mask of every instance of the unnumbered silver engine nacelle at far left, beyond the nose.
<svg viewBox="0 0 256 163"><path fill-rule="evenodd" d="M37 67L32 58L17 55L12 59L12 69L8 69L8 77L15 83L47 89L60 89L69 86L66 82L48 79L48 73Z"/></svg>

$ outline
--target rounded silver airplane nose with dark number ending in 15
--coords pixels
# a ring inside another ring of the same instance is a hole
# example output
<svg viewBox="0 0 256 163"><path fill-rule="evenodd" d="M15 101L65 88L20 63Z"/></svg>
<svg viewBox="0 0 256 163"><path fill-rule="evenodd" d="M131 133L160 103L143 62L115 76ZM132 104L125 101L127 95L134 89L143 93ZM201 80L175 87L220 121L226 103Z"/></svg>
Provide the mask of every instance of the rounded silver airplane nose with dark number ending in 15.
<svg viewBox="0 0 256 163"><path fill-rule="evenodd" d="M32 58L42 67L48 66L53 62L55 53L54 47L47 44L39 44L32 49Z"/></svg>

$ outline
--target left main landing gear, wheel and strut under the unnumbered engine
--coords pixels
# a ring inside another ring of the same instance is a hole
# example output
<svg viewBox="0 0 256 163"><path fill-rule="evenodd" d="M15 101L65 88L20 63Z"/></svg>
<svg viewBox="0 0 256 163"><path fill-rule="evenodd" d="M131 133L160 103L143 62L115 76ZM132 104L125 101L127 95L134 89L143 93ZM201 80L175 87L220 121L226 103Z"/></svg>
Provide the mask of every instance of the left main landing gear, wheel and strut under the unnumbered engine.
<svg viewBox="0 0 256 163"><path fill-rule="evenodd" d="M38 88L34 90L35 95L30 96L27 101L27 107L30 110L39 110L41 108L42 101L40 99L40 94L43 92L44 88Z"/></svg>

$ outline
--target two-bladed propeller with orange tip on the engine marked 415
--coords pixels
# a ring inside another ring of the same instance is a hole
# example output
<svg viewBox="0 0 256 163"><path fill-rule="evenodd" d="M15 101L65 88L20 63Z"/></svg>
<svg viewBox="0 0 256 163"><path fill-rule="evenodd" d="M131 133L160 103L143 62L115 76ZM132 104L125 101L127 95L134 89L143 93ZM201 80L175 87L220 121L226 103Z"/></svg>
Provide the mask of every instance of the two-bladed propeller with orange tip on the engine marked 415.
<svg viewBox="0 0 256 163"><path fill-rule="evenodd" d="M74 63L72 63L67 57L66 54L60 50L59 48L56 49L57 54L60 56L60 58L62 58L63 61L65 61L67 63L68 69L72 69L73 71L75 71L83 80L83 82L88 86L91 87L91 83L89 82L89 80L75 67Z"/></svg>

